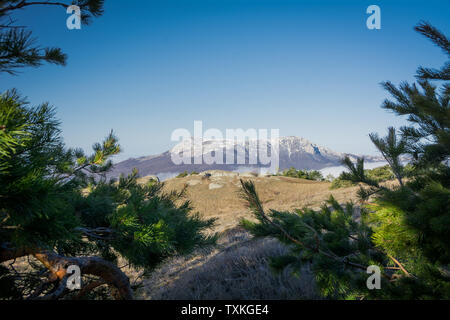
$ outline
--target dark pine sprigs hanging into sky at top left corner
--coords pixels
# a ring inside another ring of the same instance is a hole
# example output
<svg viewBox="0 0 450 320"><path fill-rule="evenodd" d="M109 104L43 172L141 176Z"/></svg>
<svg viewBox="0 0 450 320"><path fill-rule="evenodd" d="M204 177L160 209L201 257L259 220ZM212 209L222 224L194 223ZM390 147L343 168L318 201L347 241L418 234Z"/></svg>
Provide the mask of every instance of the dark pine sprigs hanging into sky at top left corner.
<svg viewBox="0 0 450 320"><path fill-rule="evenodd" d="M16 24L14 13L28 7L47 6L66 9L70 5L79 6L81 22L89 24L92 18L103 14L104 1L0 0L0 72L17 74L19 68L38 67L44 62L65 65L67 55L60 48L43 48L37 45L37 40L33 37L32 32L26 27Z"/></svg>

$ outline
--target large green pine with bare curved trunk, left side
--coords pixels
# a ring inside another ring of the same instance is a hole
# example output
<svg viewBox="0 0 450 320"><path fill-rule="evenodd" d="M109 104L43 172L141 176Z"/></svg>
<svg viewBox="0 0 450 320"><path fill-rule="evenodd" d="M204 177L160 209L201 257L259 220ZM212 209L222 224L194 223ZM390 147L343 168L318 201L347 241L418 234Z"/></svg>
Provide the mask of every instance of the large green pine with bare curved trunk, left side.
<svg viewBox="0 0 450 320"><path fill-rule="evenodd" d="M2 298L78 297L66 289L67 267L82 267L85 287L106 284L115 298L130 299L118 257L151 271L165 258L213 244L214 223L192 213L184 192L137 182L134 171L107 180L110 158L120 152L111 132L92 154L68 149L54 108L30 107L15 92L0 96L0 269ZM13 268L33 256L32 272ZM88 289L82 296L90 294Z"/></svg>

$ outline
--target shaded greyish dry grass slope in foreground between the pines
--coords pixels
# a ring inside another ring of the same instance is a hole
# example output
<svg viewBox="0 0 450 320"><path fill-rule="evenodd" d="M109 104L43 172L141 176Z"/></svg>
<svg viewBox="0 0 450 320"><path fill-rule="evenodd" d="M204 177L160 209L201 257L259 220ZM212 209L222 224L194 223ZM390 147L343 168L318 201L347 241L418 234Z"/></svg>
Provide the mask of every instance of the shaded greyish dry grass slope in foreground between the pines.
<svg viewBox="0 0 450 320"><path fill-rule="evenodd" d="M312 274L300 277L289 270L275 274L269 257L287 248L275 239L251 239L235 228L224 233L215 248L198 250L188 257L173 258L142 282L138 299L319 299Z"/></svg>

